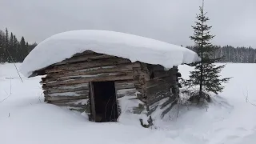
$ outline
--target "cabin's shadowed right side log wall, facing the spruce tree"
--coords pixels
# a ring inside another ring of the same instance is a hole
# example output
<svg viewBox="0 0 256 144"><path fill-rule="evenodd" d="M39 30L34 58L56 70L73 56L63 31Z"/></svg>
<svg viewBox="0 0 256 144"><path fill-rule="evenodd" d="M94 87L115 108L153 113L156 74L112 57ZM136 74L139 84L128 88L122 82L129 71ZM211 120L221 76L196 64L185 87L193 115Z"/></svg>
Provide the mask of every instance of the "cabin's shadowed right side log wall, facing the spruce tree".
<svg viewBox="0 0 256 144"><path fill-rule="evenodd" d="M148 114L156 110L160 100L167 98L161 106L161 109L166 109L163 111L162 115L164 115L174 106L178 98L178 68L174 66L170 70L165 70L163 66L150 64L147 64L147 67L150 73L150 79L146 81Z"/></svg>

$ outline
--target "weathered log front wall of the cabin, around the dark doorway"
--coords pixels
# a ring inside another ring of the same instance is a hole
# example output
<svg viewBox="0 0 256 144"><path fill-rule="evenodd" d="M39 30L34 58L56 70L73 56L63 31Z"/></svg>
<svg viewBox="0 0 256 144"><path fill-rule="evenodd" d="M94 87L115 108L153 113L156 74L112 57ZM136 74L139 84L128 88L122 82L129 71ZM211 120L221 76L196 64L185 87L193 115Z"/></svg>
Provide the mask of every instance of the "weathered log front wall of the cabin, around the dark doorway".
<svg viewBox="0 0 256 144"><path fill-rule="evenodd" d="M90 82L114 81L117 99L125 95L136 96L140 90L140 62L130 62L106 54L85 52L49 66L42 78L45 101L57 106L86 111L90 114ZM120 106L118 106L120 107ZM121 109L118 114L121 114Z"/></svg>

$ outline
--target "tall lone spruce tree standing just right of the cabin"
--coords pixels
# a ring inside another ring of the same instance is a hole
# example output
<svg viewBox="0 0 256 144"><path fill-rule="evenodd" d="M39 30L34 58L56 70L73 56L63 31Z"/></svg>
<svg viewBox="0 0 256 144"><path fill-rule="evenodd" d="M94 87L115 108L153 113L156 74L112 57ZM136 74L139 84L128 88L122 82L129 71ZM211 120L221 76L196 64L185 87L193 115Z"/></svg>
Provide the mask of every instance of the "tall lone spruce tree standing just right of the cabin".
<svg viewBox="0 0 256 144"><path fill-rule="evenodd" d="M190 39L194 41L194 51L201 58L200 62L194 63L194 71L190 71L190 79L185 82L186 86L198 86L199 90L193 93L192 98L206 98L210 100L210 92L218 94L224 88L223 82L228 82L230 78L220 78L220 72L225 65L216 66L214 62L218 62L221 58L215 58L214 54L217 50L210 42L214 35L210 34L212 26L206 24L210 18L206 17L204 12L204 3L199 7L200 13L197 14L197 22L194 34Z"/></svg>

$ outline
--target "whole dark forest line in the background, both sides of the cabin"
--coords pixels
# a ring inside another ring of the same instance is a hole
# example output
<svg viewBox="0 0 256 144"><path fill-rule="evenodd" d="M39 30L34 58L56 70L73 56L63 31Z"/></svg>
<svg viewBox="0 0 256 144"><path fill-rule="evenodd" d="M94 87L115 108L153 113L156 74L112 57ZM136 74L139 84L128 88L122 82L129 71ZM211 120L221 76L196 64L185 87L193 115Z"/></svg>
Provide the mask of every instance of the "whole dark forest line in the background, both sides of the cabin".
<svg viewBox="0 0 256 144"><path fill-rule="evenodd" d="M6 29L0 30L0 62L23 62L37 43L30 44L22 37L17 37ZM186 46L194 50L194 46ZM217 49L214 58L223 57L219 62L256 63L256 49L252 47L214 46Z"/></svg>

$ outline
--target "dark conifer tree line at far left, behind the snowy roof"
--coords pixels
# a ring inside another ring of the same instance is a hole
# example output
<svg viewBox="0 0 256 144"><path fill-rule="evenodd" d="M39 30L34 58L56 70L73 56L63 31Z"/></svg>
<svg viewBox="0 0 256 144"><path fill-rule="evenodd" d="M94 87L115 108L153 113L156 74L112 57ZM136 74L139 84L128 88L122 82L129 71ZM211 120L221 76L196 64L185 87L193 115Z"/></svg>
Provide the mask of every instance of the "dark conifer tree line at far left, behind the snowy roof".
<svg viewBox="0 0 256 144"><path fill-rule="evenodd" d="M0 30L0 62L23 62L37 43L30 44L22 37L18 40L15 34Z"/></svg>

